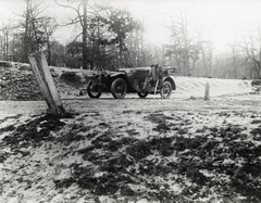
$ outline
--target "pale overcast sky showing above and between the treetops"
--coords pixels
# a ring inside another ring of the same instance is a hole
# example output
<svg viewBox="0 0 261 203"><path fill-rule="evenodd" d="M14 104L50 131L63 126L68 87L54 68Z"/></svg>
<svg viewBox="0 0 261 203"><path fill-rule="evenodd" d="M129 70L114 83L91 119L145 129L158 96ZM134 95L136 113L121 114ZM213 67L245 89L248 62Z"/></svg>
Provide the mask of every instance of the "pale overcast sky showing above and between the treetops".
<svg viewBox="0 0 261 203"><path fill-rule="evenodd" d="M99 1L102 0L96 0ZM261 20L261 0L110 0L110 3L129 10L144 22L148 41L157 45L169 41L167 26L181 11L188 16L191 30L201 25L204 37L211 37L217 50L253 34ZM47 12L57 17L74 14L53 4L53 0L45 0L44 4L51 5ZM0 0L1 22L16 18L14 13L21 14L24 8L24 0ZM67 35L64 30L63 34L61 38Z"/></svg>

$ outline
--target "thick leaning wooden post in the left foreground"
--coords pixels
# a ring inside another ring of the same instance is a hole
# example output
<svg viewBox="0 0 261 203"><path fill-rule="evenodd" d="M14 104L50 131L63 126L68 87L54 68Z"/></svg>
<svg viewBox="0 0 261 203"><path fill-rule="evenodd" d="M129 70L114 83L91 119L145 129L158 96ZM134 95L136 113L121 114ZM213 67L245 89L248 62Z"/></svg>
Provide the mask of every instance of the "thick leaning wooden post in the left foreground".
<svg viewBox="0 0 261 203"><path fill-rule="evenodd" d="M61 116L65 113L65 110L55 88L45 54L38 51L32 53L28 59L51 115Z"/></svg>

